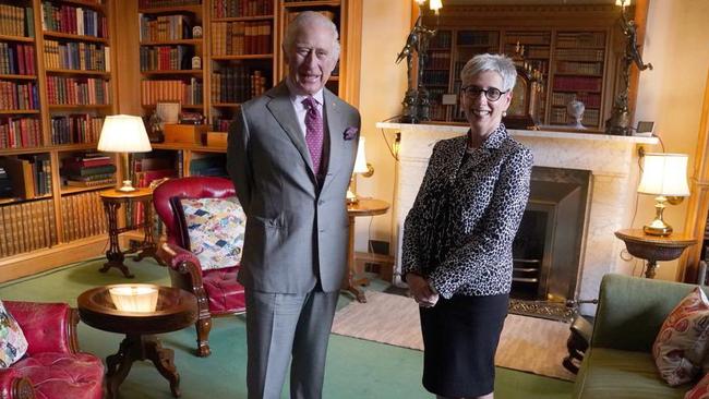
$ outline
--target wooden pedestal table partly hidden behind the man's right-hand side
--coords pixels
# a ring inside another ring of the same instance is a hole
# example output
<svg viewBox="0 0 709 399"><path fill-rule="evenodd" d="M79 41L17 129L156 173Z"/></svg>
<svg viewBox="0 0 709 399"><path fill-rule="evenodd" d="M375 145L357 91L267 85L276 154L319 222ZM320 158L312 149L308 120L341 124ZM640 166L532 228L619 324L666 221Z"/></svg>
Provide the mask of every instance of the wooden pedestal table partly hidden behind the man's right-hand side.
<svg viewBox="0 0 709 399"><path fill-rule="evenodd" d="M386 214L389 209L389 204L382 200L368 200L361 198L354 204L347 205L347 216L349 217L349 246L347 249L347 279L343 281L343 290L351 292L357 301L361 303L366 302L364 292L357 288L357 286L366 285L369 280L357 277L356 262L354 262L354 218L360 216L376 216Z"/></svg>

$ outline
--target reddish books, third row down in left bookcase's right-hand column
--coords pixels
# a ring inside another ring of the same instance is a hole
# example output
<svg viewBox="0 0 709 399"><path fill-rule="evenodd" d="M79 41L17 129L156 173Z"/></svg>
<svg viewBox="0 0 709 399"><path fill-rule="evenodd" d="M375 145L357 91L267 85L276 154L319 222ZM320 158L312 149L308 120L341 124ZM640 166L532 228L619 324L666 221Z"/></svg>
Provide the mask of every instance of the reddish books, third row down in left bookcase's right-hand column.
<svg viewBox="0 0 709 399"><path fill-rule="evenodd" d="M95 77L47 76L47 101L50 105L109 105L108 81Z"/></svg>

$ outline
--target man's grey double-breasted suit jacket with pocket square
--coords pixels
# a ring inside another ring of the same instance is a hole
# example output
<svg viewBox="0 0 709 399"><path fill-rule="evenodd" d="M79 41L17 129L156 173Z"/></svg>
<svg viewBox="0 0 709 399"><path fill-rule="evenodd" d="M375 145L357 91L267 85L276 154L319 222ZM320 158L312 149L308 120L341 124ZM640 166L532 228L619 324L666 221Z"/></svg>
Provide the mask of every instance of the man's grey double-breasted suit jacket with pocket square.
<svg viewBox="0 0 709 399"><path fill-rule="evenodd" d="M326 292L340 287L348 247L345 193L359 142L359 134L345 132L359 132L360 116L326 88L323 98L329 156L320 190L285 82L244 102L229 129L227 168L247 214L239 273L247 288L305 293L319 278Z"/></svg>

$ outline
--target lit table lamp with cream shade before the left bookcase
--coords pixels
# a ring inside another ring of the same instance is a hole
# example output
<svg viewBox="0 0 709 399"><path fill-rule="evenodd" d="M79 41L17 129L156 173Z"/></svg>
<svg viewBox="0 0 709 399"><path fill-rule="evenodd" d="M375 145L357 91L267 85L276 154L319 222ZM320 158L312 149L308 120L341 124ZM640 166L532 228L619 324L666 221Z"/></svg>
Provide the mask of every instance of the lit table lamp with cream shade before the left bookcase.
<svg viewBox="0 0 709 399"><path fill-rule="evenodd" d="M143 119L129 114L106 117L101 128L101 135L98 138L98 150L119 153L121 155L123 185L117 190L121 192L135 191L131 183L128 153L148 153L153 150Z"/></svg>

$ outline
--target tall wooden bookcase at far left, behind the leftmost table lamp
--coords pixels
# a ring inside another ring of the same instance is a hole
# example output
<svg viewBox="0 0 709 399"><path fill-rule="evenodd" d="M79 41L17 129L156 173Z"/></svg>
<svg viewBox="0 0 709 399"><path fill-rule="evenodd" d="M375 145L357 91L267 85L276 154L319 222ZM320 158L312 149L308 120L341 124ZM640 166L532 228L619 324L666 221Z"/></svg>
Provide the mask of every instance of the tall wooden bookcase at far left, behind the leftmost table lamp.
<svg viewBox="0 0 709 399"><path fill-rule="evenodd" d="M0 1L0 46L13 49L0 51L0 83L17 93L14 106L0 101L0 168L13 188L0 198L0 280L105 245L98 191L112 184L67 186L61 170L64 159L96 152L103 119L116 111L112 2Z"/></svg>

